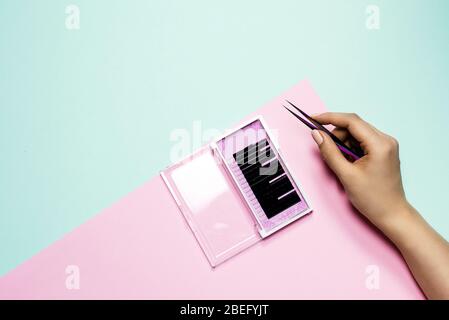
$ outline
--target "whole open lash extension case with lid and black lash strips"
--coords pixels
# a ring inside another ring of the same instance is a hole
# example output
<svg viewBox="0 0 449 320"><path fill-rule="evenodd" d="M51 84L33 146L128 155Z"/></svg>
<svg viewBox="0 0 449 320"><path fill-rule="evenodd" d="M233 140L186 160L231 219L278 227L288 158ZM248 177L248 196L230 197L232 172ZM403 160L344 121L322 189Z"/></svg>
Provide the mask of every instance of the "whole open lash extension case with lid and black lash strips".
<svg viewBox="0 0 449 320"><path fill-rule="evenodd" d="M310 213L262 117L161 172L212 267Z"/></svg>

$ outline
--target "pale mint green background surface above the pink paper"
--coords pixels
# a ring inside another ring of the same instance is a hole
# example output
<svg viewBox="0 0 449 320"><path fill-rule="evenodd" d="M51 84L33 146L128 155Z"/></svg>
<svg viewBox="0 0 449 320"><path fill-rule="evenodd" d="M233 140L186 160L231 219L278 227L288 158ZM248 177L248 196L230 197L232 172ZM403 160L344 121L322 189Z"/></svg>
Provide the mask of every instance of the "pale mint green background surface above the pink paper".
<svg viewBox="0 0 449 320"><path fill-rule="evenodd" d="M226 128L304 78L399 139L449 238L449 1L74 0L78 31L70 3L0 2L0 274L156 175L173 128Z"/></svg>

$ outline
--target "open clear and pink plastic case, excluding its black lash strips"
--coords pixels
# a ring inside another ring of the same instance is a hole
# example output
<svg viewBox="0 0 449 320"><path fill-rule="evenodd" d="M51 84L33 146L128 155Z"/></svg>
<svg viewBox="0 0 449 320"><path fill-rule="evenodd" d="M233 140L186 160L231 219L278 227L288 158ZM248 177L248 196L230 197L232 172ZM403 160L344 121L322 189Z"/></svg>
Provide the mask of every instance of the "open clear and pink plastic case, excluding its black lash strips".
<svg viewBox="0 0 449 320"><path fill-rule="evenodd" d="M301 199L272 218L248 195L232 158L235 151L262 139L268 140ZM213 267L311 212L260 117L168 167L161 176Z"/></svg>

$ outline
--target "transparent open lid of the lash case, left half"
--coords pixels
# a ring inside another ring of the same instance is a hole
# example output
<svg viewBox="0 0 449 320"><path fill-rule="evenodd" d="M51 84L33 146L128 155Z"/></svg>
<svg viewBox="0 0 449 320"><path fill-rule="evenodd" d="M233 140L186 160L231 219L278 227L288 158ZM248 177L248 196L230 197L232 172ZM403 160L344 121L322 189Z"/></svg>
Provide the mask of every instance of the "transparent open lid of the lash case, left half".
<svg viewBox="0 0 449 320"><path fill-rule="evenodd" d="M161 175L213 267L261 239L245 201L210 146Z"/></svg>

